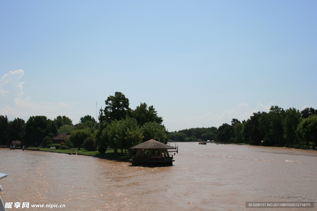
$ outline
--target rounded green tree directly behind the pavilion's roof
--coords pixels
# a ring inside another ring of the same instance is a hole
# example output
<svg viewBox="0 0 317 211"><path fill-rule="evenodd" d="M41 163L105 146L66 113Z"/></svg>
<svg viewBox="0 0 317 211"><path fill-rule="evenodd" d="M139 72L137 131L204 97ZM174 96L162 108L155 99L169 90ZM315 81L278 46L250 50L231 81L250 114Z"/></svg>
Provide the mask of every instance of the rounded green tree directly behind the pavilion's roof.
<svg viewBox="0 0 317 211"><path fill-rule="evenodd" d="M144 135L143 142L154 139L162 143L167 143L168 138L164 125L157 122L147 122L141 127L141 131Z"/></svg>

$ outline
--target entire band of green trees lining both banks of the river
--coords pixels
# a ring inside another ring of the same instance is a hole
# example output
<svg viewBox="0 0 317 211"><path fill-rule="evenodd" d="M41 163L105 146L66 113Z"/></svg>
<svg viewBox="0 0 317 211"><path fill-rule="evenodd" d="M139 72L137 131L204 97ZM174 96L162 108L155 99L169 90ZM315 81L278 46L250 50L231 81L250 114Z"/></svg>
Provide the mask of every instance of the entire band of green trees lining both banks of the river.
<svg viewBox="0 0 317 211"><path fill-rule="evenodd" d="M317 110L314 108L300 112L295 108L284 110L272 106L268 113L253 113L246 121L232 119L230 125L224 123L218 128L197 127L168 132L153 106L140 103L131 109L129 99L121 92L109 96L105 104L105 108L99 111L99 122L86 115L75 125L66 116L57 116L54 120L46 116L30 116L25 122L20 118L9 121L7 116L0 115L0 145L18 140L25 146L46 147L52 143L50 138L62 133L70 133L63 143L65 147L84 146L89 150L98 149L100 153L111 147L115 153L120 149L121 154L150 139L162 143L201 139L294 148L314 148L317 145Z"/></svg>

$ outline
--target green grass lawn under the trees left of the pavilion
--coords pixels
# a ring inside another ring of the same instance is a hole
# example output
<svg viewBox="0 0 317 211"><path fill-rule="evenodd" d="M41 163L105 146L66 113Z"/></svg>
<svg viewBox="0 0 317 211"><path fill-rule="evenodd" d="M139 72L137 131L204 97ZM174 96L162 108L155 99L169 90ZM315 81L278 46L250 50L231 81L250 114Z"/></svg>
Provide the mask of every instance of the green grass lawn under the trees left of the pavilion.
<svg viewBox="0 0 317 211"><path fill-rule="evenodd" d="M124 155L121 156L120 150L118 150L118 154L114 154L113 149L107 149L106 153L101 154L98 151L87 151L85 149L82 150L77 150L75 148L70 149L70 150L75 150L77 151L78 154L85 154L85 155L96 155L96 156L101 156L101 157L108 157L108 158L119 158L123 160L128 160L130 159L129 154L127 152L127 155L124 153ZM49 152L63 152L63 153L69 153L69 149L61 150L61 149L49 149L49 148L40 148L40 151L49 151Z"/></svg>

